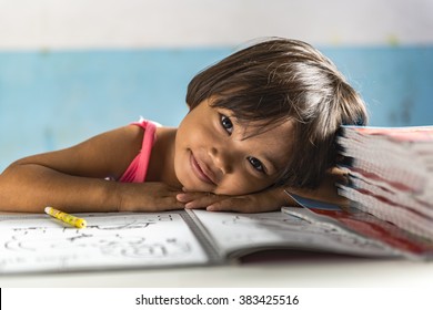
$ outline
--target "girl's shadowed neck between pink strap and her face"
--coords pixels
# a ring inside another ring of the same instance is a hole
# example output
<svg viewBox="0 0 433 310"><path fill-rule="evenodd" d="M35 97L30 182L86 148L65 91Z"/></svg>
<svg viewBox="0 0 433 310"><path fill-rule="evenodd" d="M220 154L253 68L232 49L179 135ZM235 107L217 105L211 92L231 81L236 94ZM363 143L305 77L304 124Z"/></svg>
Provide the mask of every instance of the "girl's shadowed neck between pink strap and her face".
<svg viewBox="0 0 433 310"><path fill-rule="evenodd" d="M174 142L178 128L158 127L157 140L150 156L147 180L163 182L181 188L174 172Z"/></svg>

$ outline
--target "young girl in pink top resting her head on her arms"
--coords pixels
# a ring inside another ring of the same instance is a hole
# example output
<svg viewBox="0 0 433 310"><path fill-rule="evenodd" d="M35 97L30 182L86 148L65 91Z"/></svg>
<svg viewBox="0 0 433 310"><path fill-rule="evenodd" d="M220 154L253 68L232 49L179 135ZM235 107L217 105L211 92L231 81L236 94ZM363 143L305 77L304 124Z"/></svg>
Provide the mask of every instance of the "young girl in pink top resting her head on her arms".
<svg viewBox="0 0 433 310"><path fill-rule="evenodd" d="M342 203L334 137L363 101L311 45L273 38L199 73L178 128L150 121L34 155L0 175L0 210L266 211L288 193Z"/></svg>

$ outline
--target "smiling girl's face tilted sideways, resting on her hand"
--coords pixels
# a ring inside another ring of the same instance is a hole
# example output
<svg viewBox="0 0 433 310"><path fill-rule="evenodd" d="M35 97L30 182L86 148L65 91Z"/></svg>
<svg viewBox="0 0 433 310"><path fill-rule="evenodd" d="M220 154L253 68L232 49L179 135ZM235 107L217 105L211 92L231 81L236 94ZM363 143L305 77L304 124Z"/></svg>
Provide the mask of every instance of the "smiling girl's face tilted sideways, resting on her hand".
<svg viewBox="0 0 433 310"><path fill-rule="evenodd" d="M259 132L259 133L258 133ZM288 162L293 125L258 131L205 100L183 118L175 138L174 170L191 192L244 195L275 183Z"/></svg>

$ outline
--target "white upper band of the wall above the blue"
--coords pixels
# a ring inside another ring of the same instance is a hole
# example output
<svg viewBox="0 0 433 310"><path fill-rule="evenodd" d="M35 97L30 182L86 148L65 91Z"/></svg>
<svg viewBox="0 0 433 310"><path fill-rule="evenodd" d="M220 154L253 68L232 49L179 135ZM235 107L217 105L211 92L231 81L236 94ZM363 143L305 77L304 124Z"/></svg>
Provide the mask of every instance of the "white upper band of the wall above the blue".
<svg viewBox="0 0 433 310"><path fill-rule="evenodd" d="M233 45L265 35L427 44L433 1L0 0L0 50Z"/></svg>

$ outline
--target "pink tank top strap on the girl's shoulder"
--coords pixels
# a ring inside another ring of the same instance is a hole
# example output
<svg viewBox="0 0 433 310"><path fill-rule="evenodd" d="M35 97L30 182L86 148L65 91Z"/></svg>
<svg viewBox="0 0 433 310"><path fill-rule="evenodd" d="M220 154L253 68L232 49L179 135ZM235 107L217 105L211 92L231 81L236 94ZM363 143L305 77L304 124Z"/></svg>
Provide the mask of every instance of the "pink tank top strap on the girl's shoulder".
<svg viewBox="0 0 433 310"><path fill-rule="evenodd" d="M119 179L123 183L143 183L148 173L150 154L155 140L157 124L151 121L141 120L132 125L140 126L144 130L143 142L140 153L131 162L122 177Z"/></svg>

